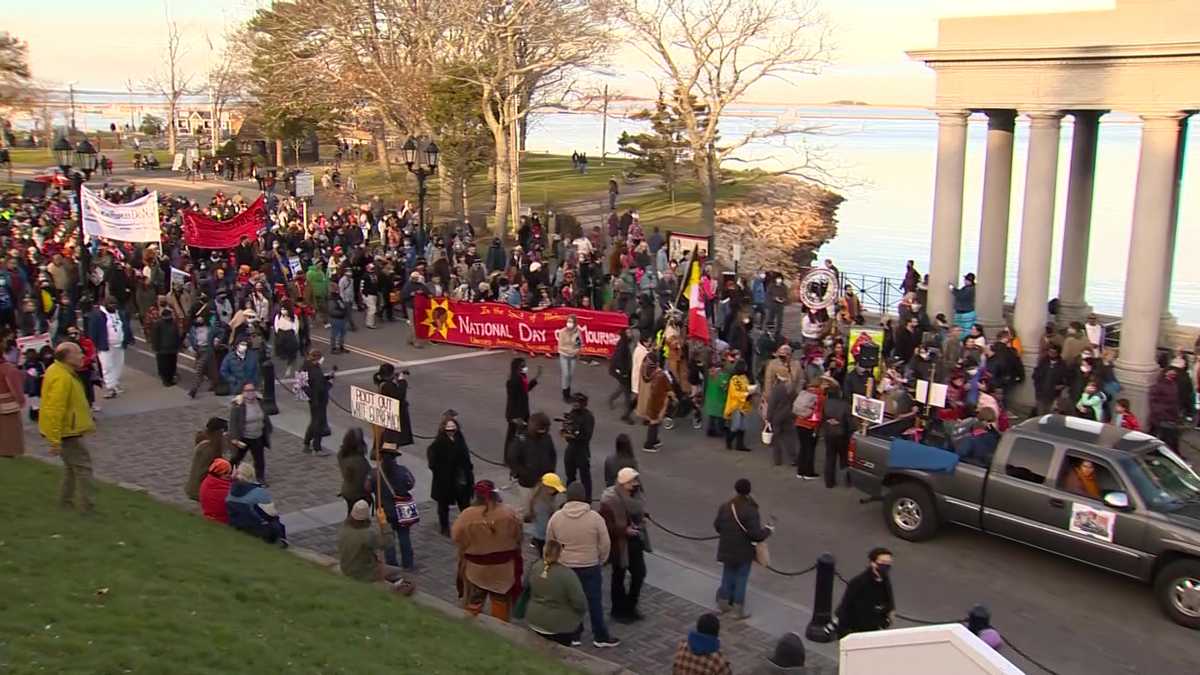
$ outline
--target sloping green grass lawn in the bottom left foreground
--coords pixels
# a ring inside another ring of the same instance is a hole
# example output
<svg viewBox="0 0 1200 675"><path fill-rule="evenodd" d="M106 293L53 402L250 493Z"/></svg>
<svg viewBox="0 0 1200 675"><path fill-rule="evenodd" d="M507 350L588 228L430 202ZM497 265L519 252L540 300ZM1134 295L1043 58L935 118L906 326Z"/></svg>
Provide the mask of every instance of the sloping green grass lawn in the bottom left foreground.
<svg viewBox="0 0 1200 675"><path fill-rule="evenodd" d="M229 527L0 460L0 673L524 673L569 669Z"/></svg>

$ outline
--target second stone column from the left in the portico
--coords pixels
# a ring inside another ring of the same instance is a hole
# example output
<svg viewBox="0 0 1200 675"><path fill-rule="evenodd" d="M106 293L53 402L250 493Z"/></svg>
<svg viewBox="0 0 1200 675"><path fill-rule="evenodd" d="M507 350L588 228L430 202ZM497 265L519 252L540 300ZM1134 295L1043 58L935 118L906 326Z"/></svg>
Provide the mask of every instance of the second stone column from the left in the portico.
<svg viewBox="0 0 1200 675"><path fill-rule="evenodd" d="M988 335L1004 323L1004 271L1008 268L1008 207L1013 189L1013 127L1016 110L988 110L988 159L983 171L976 315Z"/></svg>

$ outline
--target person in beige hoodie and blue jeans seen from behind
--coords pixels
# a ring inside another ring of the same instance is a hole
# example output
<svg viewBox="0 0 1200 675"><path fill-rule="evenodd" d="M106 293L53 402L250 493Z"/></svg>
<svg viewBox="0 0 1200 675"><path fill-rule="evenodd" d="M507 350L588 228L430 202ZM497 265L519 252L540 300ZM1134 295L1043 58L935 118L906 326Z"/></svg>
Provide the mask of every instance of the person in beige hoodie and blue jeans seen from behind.
<svg viewBox="0 0 1200 675"><path fill-rule="evenodd" d="M620 640L608 634L604 621L604 563L612 546L608 526L592 510L582 483L575 482L566 488L566 503L550 516L546 540L563 545L558 562L571 568L583 585L592 621L592 644L596 647L620 645Z"/></svg>

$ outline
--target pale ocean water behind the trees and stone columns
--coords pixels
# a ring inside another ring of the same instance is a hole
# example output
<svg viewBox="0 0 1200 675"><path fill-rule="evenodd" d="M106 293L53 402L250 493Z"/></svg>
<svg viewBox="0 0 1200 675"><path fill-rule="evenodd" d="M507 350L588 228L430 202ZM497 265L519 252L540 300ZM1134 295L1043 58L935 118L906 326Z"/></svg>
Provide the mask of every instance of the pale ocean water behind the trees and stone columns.
<svg viewBox="0 0 1200 675"><path fill-rule="evenodd" d="M110 121L128 121L128 112L113 114L101 106L126 104L126 95L78 95L77 120L88 129L107 129ZM202 104L199 98L187 103ZM134 95L138 112L156 112L152 96ZM628 110L610 109L606 147L617 150L623 131L648 129L646 123L628 119ZM810 127L812 133L788 139L752 142L738 153L745 162L732 168L761 166L792 168L810 157L826 169L830 189L846 197L838 210L838 237L817 255L833 258L851 274L895 276L905 261L929 269L929 238L934 208L934 165L937 150L937 119L919 108L787 107L739 106L721 126L727 139L770 129L780 123ZM542 113L530 121L530 151L588 154L589 171L599 166L601 117L598 113ZM61 124L61 117L58 120ZM1091 246L1087 264L1087 300L1100 312L1120 315L1124 301L1133 198L1138 173L1141 127L1133 115L1111 113L1100 120L1096 168L1096 198L1092 209ZM973 115L967 132L966 179L962 207L962 274L977 268L979 214L983 190L986 120ZM1062 124L1058 153L1055 245L1051 251L1050 294L1057 295L1061 234L1070 159L1072 123ZM1198 148L1200 123L1188 132L1189 148ZM1019 119L1013 153L1013 202L1008 240L1006 298L1016 293L1018 251L1020 250L1021 204L1025 187L1025 160L1028 154L1028 125ZM1180 202L1176 264L1170 289L1170 309L1182 322L1200 324L1200 265L1186 262L1186 251L1200 246L1200 185L1188 180L1198 175L1195 153L1184 156L1184 180ZM822 174L824 175L824 174ZM650 223L653 225L653 223Z"/></svg>

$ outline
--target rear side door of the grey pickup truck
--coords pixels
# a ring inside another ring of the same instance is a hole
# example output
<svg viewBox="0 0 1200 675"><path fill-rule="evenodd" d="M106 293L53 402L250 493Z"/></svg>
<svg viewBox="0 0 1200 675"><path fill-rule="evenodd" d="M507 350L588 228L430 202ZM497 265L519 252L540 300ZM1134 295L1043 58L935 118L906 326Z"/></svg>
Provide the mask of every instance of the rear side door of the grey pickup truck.
<svg viewBox="0 0 1200 675"><path fill-rule="evenodd" d="M1018 436L1001 446L988 474L983 528L994 534L1056 550L1061 533L1055 522L1062 510L1051 506L1056 495L1048 480L1055 447L1045 441Z"/></svg>

